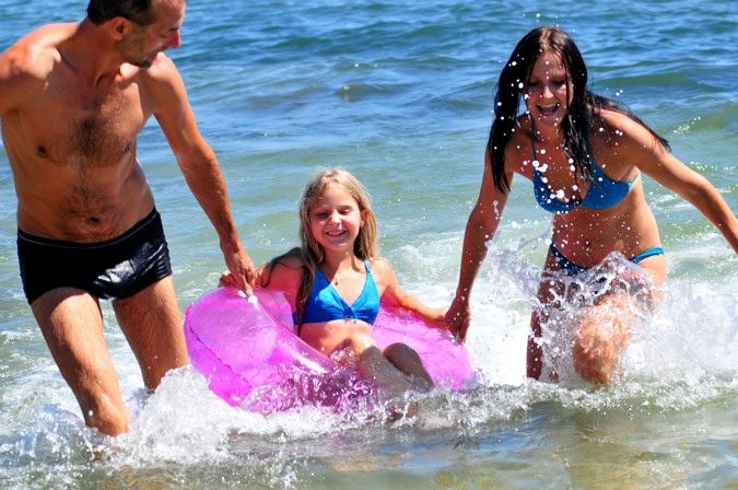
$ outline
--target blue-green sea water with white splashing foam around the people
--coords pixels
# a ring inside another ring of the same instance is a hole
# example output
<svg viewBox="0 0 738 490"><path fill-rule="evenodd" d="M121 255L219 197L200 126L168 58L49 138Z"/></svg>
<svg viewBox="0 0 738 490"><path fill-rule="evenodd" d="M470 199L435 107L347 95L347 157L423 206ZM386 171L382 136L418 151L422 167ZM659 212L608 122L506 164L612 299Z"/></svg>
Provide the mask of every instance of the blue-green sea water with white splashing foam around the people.
<svg viewBox="0 0 738 490"><path fill-rule="evenodd" d="M0 0L0 50L86 2ZM400 284L448 305L477 199L500 69L538 25L570 32L591 88L628 104L738 211L738 5L652 2L250 0L188 2L168 51L225 174L257 264L297 244L297 198L320 167L367 187ZM2 97L2 94L0 94ZM216 235L152 118L139 160L162 212L184 315L216 287ZM487 489L738 487L738 257L649 178L669 281L634 325L622 378L525 377L530 299L550 215L516 178L472 296L468 389L371 409L269 416L231 408L191 366L149 395L103 302L133 422L85 428L22 293L16 198L0 147L0 487Z"/></svg>

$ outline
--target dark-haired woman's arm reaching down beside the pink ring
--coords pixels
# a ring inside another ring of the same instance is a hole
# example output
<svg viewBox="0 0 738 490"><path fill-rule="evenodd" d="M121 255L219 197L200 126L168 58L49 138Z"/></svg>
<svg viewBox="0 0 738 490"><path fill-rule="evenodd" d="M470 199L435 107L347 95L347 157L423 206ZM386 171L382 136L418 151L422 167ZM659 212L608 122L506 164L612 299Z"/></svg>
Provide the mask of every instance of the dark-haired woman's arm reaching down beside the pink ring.
<svg viewBox="0 0 738 490"><path fill-rule="evenodd" d="M512 172L507 174L507 182L509 184L513 182ZM487 242L492 238L497 230L506 202L507 192L500 191L494 185L490 154L487 152L484 155L484 175L482 176L479 197L477 198L477 205L471 210L464 234L461 267L458 285L456 287L456 296L446 313L448 329L461 342L466 340L467 329L471 322L471 311L469 308L471 288L477 278L477 272L479 272L479 267L484 257L487 257Z"/></svg>

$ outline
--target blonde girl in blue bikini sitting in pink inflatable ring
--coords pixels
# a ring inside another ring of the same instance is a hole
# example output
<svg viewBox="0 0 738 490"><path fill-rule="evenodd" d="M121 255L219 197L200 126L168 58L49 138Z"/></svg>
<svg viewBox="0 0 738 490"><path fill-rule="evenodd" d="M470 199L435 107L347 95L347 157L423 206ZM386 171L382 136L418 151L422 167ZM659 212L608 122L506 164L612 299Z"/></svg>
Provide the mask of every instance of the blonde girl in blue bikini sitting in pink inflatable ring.
<svg viewBox="0 0 738 490"><path fill-rule="evenodd" d="M327 355L347 353L339 362L352 359L363 377L391 396L430 389L433 382L418 353L403 343L380 351L372 324L380 300L433 326L443 325L446 311L408 295L389 264L376 256L376 219L359 180L343 170L320 172L305 187L300 218L302 246L260 267L257 287L284 294L306 343ZM221 283L236 287L230 272Z"/></svg>

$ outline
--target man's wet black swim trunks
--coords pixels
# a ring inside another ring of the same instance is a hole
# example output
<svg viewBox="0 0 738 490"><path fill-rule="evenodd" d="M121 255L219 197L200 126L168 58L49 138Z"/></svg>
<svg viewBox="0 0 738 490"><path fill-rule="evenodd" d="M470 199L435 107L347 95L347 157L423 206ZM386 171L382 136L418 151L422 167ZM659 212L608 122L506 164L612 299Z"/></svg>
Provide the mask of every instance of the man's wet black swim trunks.
<svg viewBox="0 0 738 490"><path fill-rule="evenodd" d="M172 275L156 209L122 235L98 243L42 238L19 230L17 257L28 304L57 288L81 289L104 300L129 298Z"/></svg>

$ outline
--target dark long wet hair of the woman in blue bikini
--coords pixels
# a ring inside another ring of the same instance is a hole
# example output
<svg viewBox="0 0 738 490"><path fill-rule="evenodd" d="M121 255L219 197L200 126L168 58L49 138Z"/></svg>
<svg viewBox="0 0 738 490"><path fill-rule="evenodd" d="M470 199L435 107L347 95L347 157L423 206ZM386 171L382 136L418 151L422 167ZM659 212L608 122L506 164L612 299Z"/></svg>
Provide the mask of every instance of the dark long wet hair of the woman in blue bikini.
<svg viewBox="0 0 738 490"><path fill-rule="evenodd" d="M561 121L564 133L564 151L574 160L577 180L591 180L589 160L589 137L595 129L595 116L602 109L624 114L645 127L664 147L669 143L651 127L636 117L628 107L610 98L597 95L587 89L587 67L574 39L559 27L542 26L530 31L515 47L509 60L500 73L497 92L494 96L494 122L487 143L492 162L494 185L501 192L509 190L505 175L505 147L517 126L520 98L526 92L530 73L539 56L555 52L561 56L566 71L566 116ZM569 93L569 88L573 93Z"/></svg>

